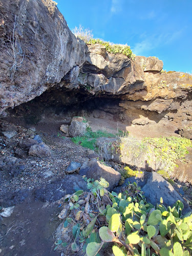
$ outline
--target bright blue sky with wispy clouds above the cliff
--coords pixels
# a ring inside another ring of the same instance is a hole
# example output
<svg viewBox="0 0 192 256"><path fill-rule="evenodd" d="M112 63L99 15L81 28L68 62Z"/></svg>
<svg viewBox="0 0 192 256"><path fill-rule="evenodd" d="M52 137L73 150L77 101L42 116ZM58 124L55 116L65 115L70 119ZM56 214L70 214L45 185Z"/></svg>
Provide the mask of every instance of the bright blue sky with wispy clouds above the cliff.
<svg viewBox="0 0 192 256"><path fill-rule="evenodd" d="M56 0L70 29L156 56L163 69L192 73L192 0Z"/></svg>

